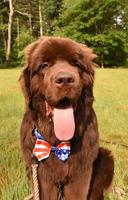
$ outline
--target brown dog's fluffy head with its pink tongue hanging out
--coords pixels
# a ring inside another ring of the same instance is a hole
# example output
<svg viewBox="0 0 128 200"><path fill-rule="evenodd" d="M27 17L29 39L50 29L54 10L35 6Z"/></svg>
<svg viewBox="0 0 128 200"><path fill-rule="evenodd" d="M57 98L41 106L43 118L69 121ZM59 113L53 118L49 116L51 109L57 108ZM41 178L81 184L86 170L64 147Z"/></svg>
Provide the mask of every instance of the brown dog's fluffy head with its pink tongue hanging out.
<svg viewBox="0 0 128 200"><path fill-rule="evenodd" d="M26 57L20 82L27 109L34 120L53 118L59 140L71 139L78 104L81 99L93 99L95 54L70 39L45 37L27 47Z"/></svg>

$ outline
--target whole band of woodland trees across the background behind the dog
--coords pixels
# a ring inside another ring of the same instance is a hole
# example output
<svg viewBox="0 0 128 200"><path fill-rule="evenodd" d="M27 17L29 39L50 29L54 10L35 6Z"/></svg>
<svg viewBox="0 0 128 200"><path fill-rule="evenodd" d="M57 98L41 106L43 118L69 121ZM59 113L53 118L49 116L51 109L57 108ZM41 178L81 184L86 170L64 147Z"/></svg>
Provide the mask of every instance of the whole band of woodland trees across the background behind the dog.
<svg viewBox="0 0 128 200"><path fill-rule="evenodd" d="M0 64L20 64L28 43L57 35L91 46L101 67L127 65L127 13L126 0L1 0Z"/></svg>

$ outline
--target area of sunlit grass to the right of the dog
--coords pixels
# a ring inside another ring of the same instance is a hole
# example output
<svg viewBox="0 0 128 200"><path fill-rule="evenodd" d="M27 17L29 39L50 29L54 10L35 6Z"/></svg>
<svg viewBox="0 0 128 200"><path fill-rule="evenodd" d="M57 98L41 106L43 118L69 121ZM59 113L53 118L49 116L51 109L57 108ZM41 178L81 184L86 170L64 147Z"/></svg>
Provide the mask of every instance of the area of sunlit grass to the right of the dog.
<svg viewBox="0 0 128 200"><path fill-rule="evenodd" d="M128 146L128 69L98 69L94 96L101 145L115 158L113 192L106 199L128 200L128 147L121 145Z"/></svg>

